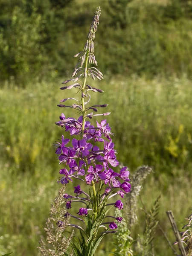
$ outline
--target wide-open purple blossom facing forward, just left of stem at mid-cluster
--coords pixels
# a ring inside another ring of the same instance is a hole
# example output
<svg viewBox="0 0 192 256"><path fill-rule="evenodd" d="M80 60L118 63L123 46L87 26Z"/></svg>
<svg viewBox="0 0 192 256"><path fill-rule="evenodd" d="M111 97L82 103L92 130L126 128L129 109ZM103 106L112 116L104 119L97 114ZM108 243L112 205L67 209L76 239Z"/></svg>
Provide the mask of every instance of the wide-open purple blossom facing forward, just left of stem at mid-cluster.
<svg viewBox="0 0 192 256"><path fill-rule="evenodd" d="M87 155L90 153L89 149L92 148L92 144L86 143L86 140L72 140L73 145L73 151L75 154L77 154L77 157L80 157L81 154L83 157L87 157Z"/></svg>

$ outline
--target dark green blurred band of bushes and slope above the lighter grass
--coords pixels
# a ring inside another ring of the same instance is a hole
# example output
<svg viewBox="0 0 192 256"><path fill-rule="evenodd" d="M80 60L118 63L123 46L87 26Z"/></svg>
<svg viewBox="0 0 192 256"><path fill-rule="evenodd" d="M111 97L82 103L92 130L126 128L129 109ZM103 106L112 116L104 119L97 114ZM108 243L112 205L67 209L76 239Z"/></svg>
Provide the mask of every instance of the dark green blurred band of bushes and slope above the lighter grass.
<svg viewBox="0 0 192 256"><path fill-rule="evenodd" d="M100 1L96 35L102 71L152 77L192 74L192 3ZM84 46L98 1L0 1L0 78L18 84L66 74ZM78 42L78 44L77 44Z"/></svg>

